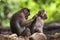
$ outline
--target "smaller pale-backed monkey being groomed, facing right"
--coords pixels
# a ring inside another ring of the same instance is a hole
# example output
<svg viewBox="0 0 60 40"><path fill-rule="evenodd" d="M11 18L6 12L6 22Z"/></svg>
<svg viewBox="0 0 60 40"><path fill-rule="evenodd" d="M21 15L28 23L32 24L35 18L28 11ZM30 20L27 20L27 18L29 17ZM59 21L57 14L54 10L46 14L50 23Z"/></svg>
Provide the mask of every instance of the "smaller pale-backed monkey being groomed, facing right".
<svg viewBox="0 0 60 40"><path fill-rule="evenodd" d="M34 19L34 21L29 27L31 34L36 32L43 33L44 20L47 19L45 10L40 10L32 19Z"/></svg>

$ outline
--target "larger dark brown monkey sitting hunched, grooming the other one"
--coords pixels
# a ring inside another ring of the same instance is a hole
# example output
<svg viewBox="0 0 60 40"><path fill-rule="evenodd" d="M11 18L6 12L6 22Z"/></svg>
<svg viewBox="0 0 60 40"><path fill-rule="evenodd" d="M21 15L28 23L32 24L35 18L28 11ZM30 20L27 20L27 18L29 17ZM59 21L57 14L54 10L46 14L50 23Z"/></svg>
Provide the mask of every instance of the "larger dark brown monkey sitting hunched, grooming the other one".
<svg viewBox="0 0 60 40"><path fill-rule="evenodd" d="M28 8L22 8L12 16L10 20L10 28L12 33L16 33L18 36L30 35L28 26L31 25L32 20L27 20L29 15L30 10Z"/></svg>

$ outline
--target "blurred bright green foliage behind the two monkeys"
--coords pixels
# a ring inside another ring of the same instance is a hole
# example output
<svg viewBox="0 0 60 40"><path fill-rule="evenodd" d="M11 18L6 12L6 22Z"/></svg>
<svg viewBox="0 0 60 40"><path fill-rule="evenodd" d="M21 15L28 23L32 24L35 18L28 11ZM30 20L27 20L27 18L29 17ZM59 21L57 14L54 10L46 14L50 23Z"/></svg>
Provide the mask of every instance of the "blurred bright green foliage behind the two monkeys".
<svg viewBox="0 0 60 40"><path fill-rule="evenodd" d="M24 7L30 9L28 19L44 9L48 15L46 23L60 21L60 0L0 0L0 26L10 26L11 16Z"/></svg>

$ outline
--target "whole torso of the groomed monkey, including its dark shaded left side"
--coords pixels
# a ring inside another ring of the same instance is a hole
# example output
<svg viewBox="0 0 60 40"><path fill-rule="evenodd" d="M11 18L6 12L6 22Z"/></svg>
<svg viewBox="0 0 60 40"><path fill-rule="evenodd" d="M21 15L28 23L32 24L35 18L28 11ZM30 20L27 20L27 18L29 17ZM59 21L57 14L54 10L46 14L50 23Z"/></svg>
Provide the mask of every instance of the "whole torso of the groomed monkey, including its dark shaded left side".
<svg viewBox="0 0 60 40"><path fill-rule="evenodd" d="M31 33L43 32L44 21L40 17L36 17L30 26Z"/></svg>

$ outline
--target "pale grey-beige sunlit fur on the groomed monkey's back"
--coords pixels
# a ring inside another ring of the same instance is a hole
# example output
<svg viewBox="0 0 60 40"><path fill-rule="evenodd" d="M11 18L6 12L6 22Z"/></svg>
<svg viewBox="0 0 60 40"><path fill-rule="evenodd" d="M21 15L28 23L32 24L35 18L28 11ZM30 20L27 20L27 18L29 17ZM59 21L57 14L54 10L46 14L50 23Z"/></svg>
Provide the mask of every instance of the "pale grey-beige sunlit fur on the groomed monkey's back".
<svg viewBox="0 0 60 40"><path fill-rule="evenodd" d="M40 32L43 32L44 21L40 17L36 18L36 23L34 24L34 29L37 29Z"/></svg>

